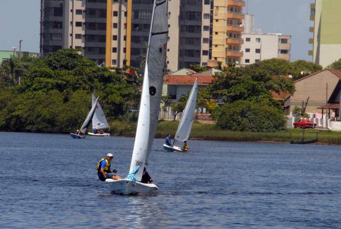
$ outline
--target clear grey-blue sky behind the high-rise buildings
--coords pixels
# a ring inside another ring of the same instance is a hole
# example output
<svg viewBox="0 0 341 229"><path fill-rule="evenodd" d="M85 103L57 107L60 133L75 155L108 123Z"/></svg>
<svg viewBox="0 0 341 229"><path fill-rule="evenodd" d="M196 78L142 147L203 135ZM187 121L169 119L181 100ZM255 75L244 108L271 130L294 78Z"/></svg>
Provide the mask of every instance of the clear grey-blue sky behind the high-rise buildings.
<svg viewBox="0 0 341 229"><path fill-rule="evenodd" d="M262 33L291 35L291 61L311 61L308 50L313 37L309 27L310 3L315 0L245 0L244 13L254 15L255 28ZM40 0L0 0L0 50L39 52Z"/></svg>

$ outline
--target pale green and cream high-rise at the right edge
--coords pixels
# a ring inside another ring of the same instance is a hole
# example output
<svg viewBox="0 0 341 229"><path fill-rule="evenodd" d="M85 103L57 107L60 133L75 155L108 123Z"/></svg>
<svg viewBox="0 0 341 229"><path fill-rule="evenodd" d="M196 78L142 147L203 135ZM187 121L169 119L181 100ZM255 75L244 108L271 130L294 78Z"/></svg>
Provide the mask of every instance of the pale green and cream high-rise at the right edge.
<svg viewBox="0 0 341 229"><path fill-rule="evenodd" d="M313 33L313 38L309 39L313 50L309 55L322 67L341 58L340 9L340 0L315 0L310 5L310 20L314 21L314 27L309 28Z"/></svg>

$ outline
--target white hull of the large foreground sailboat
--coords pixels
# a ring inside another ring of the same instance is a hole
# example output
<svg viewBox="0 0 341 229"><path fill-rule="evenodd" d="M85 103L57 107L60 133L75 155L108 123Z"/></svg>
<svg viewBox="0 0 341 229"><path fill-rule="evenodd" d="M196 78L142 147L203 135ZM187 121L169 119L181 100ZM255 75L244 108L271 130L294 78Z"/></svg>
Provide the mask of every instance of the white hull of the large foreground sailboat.
<svg viewBox="0 0 341 229"><path fill-rule="evenodd" d="M158 188L154 184L144 184L130 179L113 180L106 179L112 193L121 195L151 194Z"/></svg>

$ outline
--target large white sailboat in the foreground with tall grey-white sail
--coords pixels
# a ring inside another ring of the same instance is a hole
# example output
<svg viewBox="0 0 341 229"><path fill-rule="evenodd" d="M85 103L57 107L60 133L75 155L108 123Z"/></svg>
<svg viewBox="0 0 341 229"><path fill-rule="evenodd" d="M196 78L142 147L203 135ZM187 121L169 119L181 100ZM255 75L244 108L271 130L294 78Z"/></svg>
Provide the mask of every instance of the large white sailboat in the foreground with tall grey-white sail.
<svg viewBox="0 0 341 229"><path fill-rule="evenodd" d="M154 184L140 181L143 168L148 164L160 109L168 41L167 14L167 0L154 0L132 161L127 178L106 180L110 182L113 193L129 195L151 193L158 189Z"/></svg>

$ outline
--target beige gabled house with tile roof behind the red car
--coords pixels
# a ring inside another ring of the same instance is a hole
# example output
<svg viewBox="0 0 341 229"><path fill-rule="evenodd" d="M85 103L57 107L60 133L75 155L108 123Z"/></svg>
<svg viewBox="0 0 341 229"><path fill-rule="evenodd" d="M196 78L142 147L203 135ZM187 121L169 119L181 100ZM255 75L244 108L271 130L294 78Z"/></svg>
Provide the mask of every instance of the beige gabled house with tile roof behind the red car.
<svg viewBox="0 0 341 229"><path fill-rule="evenodd" d="M302 107L302 102L308 98L305 113L325 115L334 113L340 115L341 71L323 69L295 81L296 92L284 101L284 107L289 112ZM329 116L329 115L328 115Z"/></svg>

